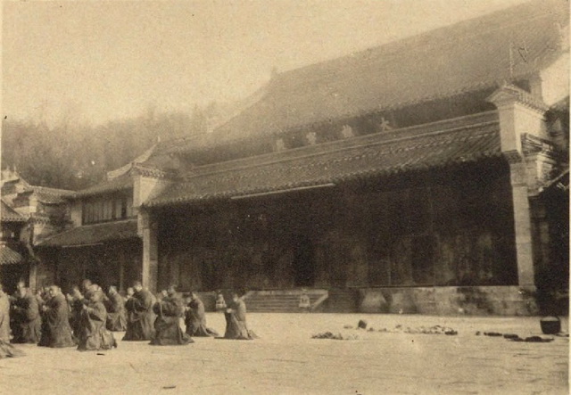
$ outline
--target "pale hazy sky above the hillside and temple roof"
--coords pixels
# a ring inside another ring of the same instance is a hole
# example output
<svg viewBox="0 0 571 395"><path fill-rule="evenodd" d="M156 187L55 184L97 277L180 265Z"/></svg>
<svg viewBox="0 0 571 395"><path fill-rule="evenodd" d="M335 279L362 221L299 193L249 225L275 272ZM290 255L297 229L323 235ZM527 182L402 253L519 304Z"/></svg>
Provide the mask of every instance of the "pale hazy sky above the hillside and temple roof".
<svg viewBox="0 0 571 395"><path fill-rule="evenodd" d="M291 70L525 0L3 2L8 119L97 125L251 95Z"/></svg>

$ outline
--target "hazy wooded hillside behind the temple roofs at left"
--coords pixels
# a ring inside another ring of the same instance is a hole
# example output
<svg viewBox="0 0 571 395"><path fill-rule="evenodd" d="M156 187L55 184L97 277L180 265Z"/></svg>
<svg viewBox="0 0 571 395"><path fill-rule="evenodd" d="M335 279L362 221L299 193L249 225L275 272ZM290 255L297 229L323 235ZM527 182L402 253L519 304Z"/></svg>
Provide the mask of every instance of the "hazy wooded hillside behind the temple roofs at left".
<svg viewBox="0 0 571 395"><path fill-rule="evenodd" d="M2 168L14 167L32 185L78 190L100 182L158 140L203 134L235 111L211 103L194 111L160 112L153 106L130 119L89 126L62 116L54 125L41 119L3 119Z"/></svg>

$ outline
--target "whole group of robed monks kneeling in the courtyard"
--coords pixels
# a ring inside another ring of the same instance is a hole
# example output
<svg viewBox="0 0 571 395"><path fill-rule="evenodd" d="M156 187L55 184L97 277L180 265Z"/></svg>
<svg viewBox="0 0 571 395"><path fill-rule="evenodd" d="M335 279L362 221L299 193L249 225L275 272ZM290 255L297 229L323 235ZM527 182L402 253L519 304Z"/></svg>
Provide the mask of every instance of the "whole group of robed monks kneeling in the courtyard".
<svg viewBox="0 0 571 395"><path fill-rule="evenodd" d="M226 317L223 337L206 326L204 304L197 292L190 292L185 300L174 285L155 296L135 282L125 297L114 286L105 294L89 280L74 286L67 295L57 285L34 293L19 283L10 296L0 285L0 358L21 355L11 343L111 350L117 347L113 332L125 332L123 341L152 345L184 345L194 342L194 336L256 337L246 325L245 303L237 293L233 293L230 306L219 293L216 306Z"/></svg>

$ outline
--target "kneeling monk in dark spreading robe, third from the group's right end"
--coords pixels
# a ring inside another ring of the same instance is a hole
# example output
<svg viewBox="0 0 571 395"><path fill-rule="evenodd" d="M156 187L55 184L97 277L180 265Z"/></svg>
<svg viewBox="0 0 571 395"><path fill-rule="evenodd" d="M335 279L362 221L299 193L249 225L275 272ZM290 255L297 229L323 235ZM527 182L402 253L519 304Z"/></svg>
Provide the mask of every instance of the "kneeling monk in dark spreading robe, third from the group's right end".
<svg viewBox="0 0 571 395"><path fill-rule="evenodd" d="M174 286L169 287L167 296L156 302L153 309L157 318L154 320L155 335L151 344L171 346L194 342L180 327L185 307Z"/></svg>

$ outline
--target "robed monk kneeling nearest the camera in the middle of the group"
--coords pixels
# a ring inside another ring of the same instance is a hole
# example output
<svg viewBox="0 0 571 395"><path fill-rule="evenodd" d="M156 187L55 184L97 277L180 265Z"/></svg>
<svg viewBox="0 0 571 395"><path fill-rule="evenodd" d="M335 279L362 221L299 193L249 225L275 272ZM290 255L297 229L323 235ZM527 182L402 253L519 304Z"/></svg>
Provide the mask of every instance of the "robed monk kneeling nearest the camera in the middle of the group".
<svg viewBox="0 0 571 395"><path fill-rule="evenodd" d="M83 306L80 316L78 350L111 350L117 347L113 333L105 327L107 310L103 305L103 292L90 293L87 305Z"/></svg>

